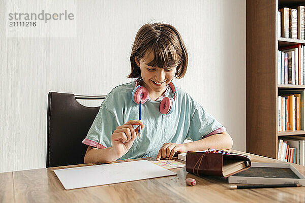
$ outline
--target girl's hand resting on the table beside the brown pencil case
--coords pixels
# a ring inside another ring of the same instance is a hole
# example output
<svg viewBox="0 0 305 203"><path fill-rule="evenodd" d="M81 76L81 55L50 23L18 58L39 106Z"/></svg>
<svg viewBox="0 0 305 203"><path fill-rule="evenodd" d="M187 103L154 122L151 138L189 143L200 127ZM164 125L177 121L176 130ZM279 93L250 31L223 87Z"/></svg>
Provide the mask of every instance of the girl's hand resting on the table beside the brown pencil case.
<svg viewBox="0 0 305 203"><path fill-rule="evenodd" d="M164 143L161 149L159 150L156 160L159 161L161 157L168 157L168 159L172 159L175 154L185 152L187 152L187 149L184 144Z"/></svg>

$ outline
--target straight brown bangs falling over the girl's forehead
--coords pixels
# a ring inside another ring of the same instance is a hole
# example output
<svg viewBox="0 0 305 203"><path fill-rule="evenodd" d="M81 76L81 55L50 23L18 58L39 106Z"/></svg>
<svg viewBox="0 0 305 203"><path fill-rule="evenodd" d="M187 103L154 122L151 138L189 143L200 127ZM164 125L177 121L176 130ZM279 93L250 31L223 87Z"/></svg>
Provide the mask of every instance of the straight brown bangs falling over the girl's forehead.
<svg viewBox="0 0 305 203"><path fill-rule="evenodd" d="M152 67L162 67L163 69L172 69L181 63L182 58L169 41L167 41L167 43L160 41L161 39L159 39L159 41L157 40L154 46L147 49L147 54L145 54L146 56L151 52L154 54L154 59L147 63L147 65ZM146 58L144 58L144 60L145 59Z"/></svg>

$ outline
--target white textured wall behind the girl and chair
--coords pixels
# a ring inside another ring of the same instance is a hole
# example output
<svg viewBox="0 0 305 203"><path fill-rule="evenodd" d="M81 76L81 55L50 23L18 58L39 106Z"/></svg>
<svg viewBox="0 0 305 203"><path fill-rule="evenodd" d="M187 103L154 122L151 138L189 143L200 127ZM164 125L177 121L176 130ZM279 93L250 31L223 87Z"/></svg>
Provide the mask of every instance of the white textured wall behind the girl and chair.
<svg viewBox="0 0 305 203"><path fill-rule="evenodd" d="M130 81L136 32L158 21L174 25L189 52L176 86L246 150L246 1L79 0L77 38L6 38L0 8L0 172L45 167L48 92L104 94Z"/></svg>

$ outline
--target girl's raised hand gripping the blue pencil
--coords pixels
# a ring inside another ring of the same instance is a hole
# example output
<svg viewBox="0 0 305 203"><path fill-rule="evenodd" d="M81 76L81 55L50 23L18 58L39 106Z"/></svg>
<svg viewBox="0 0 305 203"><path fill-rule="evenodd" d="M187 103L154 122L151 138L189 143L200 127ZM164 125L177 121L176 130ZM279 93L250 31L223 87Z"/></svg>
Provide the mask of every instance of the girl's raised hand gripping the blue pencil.
<svg viewBox="0 0 305 203"><path fill-rule="evenodd" d="M130 120L124 125L117 126L111 136L112 147L119 157L129 151L138 136L139 126L135 129L133 125L141 125L141 129L144 127L141 121Z"/></svg>

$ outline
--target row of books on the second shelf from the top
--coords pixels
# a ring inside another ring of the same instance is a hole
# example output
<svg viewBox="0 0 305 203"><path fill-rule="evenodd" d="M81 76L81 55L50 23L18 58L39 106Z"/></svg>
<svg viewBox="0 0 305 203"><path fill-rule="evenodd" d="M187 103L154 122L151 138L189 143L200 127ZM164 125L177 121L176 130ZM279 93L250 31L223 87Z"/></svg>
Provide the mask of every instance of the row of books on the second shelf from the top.
<svg viewBox="0 0 305 203"><path fill-rule="evenodd" d="M305 85L305 48L293 45L279 48L278 84Z"/></svg>

